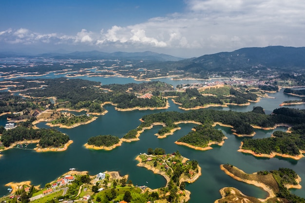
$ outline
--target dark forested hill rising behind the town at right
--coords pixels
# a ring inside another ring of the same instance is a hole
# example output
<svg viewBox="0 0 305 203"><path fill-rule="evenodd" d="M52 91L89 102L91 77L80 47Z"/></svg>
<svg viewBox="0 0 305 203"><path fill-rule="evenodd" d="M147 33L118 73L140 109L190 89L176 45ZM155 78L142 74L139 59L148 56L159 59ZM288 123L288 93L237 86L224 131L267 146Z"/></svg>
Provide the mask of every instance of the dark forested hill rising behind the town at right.
<svg viewBox="0 0 305 203"><path fill-rule="evenodd" d="M211 55L202 55L196 58L177 62L162 63L168 68L188 71L191 73L249 71L249 68L264 70L276 68L290 72L291 68L305 67L305 47L268 46L263 48L242 48L233 52L220 52ZM151 64L157 67L162 64Z"/></svg>

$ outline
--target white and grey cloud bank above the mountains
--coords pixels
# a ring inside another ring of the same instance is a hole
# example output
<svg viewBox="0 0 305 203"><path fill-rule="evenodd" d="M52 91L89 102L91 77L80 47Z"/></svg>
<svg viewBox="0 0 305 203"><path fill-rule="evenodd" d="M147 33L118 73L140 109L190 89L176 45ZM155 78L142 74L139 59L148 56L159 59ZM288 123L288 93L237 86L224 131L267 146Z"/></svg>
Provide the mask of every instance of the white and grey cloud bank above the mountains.
<svg viewBox="0 0 305 203"><path fill-rule="evenodd" d="M30 28L0 30L0 45L88 46L117 51L159 50L198 56L242 47L305 46L303 0L188 0L184 13L94 33L35 33ZM188 54L186 54L188 53Z"/></svg>

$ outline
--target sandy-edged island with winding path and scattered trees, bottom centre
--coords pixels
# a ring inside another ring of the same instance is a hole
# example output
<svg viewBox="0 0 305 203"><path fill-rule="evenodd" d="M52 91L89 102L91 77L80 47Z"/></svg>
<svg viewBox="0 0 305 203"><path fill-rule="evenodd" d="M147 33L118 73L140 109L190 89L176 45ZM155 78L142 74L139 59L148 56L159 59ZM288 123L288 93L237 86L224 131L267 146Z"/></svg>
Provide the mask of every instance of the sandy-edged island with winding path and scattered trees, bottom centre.
<svg viewBox="0 0 305 203"><path fill-rule="evenodd" d="M166 198L168 202L189 201L191 193L185 189L185 182L193 183L201 175L197 161L189 161L179 151L165 154L162 148L149 148L147 154L140 154L135 159L139 162L137 166L152 170L166 179L166 186L157 189L159 197Z"/></svg>

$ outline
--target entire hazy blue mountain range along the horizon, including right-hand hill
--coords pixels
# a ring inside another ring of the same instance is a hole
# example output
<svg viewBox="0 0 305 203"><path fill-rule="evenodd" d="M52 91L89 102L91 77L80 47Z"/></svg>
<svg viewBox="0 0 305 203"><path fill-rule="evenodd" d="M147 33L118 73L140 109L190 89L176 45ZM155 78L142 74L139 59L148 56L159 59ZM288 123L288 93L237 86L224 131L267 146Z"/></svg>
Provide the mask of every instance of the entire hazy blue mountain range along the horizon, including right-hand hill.
<svg viewBox="0 0 305 203"><path fill-rule="evenodd" d="M16 53L0 53L0 57L28 56ZM201 72L227 72L248 69L270 68L281 71L300 70L305 68L305 47L268 46L264 48L242 48L233 52L221 52L211 55L202 55L183 59L172 55L154 52L114 52L99 51L73 52L69 54L46 53L35 55L56 59L124 59L143 60L144 68L167 70L183 70L190 73Z"/></svg>

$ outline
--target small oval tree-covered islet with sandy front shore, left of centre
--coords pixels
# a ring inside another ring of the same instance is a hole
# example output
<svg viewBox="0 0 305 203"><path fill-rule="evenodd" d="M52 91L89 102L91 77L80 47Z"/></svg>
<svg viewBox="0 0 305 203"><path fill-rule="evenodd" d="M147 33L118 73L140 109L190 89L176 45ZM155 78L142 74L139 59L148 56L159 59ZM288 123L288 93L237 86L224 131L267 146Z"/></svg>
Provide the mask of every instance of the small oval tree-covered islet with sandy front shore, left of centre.
<svg viewBox="0 0 305 203"><path fill-rule="evenodd" d="M84 146L85 148L90 149L104 149L104 150L112 150L118 146L121 146L123 141L121 141L118 137L113 135L98 135L95 137L90 137L88 139L88 143Z"/></svg>

